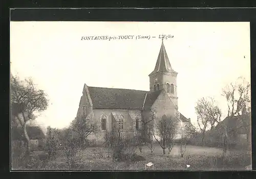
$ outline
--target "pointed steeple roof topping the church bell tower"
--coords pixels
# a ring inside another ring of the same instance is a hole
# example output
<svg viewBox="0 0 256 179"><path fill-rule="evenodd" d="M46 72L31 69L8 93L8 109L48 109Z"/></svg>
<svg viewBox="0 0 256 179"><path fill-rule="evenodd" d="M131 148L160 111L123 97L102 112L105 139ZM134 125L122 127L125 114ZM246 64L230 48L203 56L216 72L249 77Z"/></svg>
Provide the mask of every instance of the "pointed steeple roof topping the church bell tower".
<svg viewBox="0 0 256 179"><path fill-rule="evenodd" d="M167 53L165 51L165 47L163 44L163 39L162 39L162 45L161 49L157 58L157 63L155 66L155 70L150 74L154 74L157 72L170 72L170 73L177 73L173 70L172 66L170 65Z"/></svg>

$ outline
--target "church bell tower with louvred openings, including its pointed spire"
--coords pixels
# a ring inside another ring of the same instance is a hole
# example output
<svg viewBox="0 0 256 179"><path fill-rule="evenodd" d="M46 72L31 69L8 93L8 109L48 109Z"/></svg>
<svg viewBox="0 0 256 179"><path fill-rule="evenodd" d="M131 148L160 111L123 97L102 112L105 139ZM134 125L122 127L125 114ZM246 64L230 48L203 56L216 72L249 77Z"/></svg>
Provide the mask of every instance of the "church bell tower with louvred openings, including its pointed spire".
<svg viewBox="0 0 256 179"><path fill-rule="evenodd" d="M162 40L155 69L148 75L150 77L150 91L164 90L178 108L177 75L178 73L170 65Z"/></svg>

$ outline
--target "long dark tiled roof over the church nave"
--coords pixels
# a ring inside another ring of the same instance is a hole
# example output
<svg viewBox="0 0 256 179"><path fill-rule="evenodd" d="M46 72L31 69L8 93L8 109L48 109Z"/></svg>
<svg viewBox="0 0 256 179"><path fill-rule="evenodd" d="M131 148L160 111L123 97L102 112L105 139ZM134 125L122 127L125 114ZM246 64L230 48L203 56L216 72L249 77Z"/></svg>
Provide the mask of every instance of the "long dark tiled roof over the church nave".
<svg viewBox="0 0 256 179"><path fill-rule="evenodd" d="M88 86L93 108L141 109L147 91Z"/></svg>

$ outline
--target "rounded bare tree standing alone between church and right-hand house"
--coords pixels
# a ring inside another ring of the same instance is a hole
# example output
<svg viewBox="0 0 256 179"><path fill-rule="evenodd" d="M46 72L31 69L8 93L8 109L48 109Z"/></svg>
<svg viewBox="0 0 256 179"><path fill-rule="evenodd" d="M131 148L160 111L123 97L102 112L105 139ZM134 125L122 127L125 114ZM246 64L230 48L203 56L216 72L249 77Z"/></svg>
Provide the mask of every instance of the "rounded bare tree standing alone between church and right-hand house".
<svg viewBox="0 0 256 179"><path fill-rule="evenodd" d="M213 128L221 120L221 110L215 105L213 98L201 98L195 107L198 115L197 122L202 133L202 144L205 145L205 132L210 127Z"/></svg>

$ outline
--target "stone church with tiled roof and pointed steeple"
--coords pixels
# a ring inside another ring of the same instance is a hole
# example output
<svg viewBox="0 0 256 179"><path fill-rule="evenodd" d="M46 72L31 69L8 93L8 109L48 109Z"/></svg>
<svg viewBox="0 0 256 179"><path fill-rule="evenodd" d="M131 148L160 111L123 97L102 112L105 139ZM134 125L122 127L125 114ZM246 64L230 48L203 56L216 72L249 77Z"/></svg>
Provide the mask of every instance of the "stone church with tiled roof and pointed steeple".
<svg viewBox="0 0 256 179"><path fill-rule="evenodd" d="M155 69L148 75L150 91L93 87L84 84L77 118L97 122L100 131L90 138L104 141L106 131L116 130L117 127L125 135L133 137L142 129L139 119L150 120L154 111L156 121L163 115L178 120L177 139L181 137L184 129L186 135L191 137L194 126L191 125L190 119L178 111L177 75L170 65L162 41Z"/></svg>

